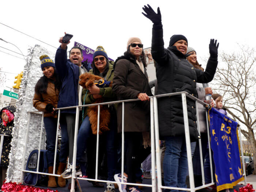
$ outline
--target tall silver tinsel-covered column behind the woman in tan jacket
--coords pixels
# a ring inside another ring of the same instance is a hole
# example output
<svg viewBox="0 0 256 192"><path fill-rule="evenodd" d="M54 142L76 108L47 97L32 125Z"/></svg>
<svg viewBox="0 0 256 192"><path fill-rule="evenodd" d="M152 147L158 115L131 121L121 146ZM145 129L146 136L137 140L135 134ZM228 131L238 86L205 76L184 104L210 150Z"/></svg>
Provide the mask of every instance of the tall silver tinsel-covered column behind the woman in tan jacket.
<svg viewBox="0 0 256 192"><path fill-rule="evenodd" d="M33 48L28 50L26 64L23 70L23 79L20 85L19 98L16 102L16 112L14 117L14 129L12 130L12 141L11 151L9 154L10 163L7 169L7 182L22 182L21 181L21 169L22 159L24 154L24 147L26 143L26 132L28 124L27 112L36 111L33 107L33 97L35 84L38 79L43 76L42 69L40 67L41 61L39 57L43 54L54 60L54 54L49 52L47 49L42 48L39 45L35 45ZM25 154L25 165L27 158L32 150L38 149L41 129L41 114L31 114L30 125L29 125L29 137L27 141L27 150ZM42 136L41 148L44 149L45 136Z"/></svg>

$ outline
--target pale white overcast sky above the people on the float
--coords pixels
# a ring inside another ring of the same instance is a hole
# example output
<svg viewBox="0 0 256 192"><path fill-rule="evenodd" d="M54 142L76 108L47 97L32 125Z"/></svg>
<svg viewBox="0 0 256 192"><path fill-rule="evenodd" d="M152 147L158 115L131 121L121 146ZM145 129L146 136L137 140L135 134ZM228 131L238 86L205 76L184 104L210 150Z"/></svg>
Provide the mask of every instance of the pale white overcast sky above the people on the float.
<svg viewBox="0 0 256 192"><path fill-rule="evenodd" d="M101 45L108 56L121 56L129 37L142 40L144 48L151 46L152 23L141 12L144 4L156 11L160 7L165 47L173 34L183 34L188 45L196 49L200 58L208 56L211 38L218 39L219 51L238 50L237 43L251 47L255 38L255 1L173 1L173 0L129 0L129 1L1 1L0 23L31 35L54 47L64 31L73 34L68 49L77 41L94 49ZM24 55L30 46L39 44L55 52L56 49L18 31L0 24L0 38L15 44ZM20 51L13 45L0 41L0 46ZM0 47L0 67L6 74L5 85L13 86L14 77L23 71L23 56ZM53 58L54 59L54 58ZM38 59L39 62L39 59ZM3 92L3 85L0 93ZM9 90L9 89L8 89Z"/></svg>

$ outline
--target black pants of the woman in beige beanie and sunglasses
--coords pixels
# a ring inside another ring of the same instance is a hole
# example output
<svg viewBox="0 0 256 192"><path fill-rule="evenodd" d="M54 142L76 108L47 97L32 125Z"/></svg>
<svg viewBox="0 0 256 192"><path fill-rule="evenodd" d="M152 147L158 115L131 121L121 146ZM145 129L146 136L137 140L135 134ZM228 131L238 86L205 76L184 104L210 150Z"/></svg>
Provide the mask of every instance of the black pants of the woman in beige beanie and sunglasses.
<svg viewBox="0 0 256 192"><path fill-rule="evenodd" d="M142 132L125 132L124 139L127 142L127 151L125 154L126 170L128 174L128 182L136 182L136 167L140 167L141 163L151 153L151 147L146 149L143 146Z"/></svg>

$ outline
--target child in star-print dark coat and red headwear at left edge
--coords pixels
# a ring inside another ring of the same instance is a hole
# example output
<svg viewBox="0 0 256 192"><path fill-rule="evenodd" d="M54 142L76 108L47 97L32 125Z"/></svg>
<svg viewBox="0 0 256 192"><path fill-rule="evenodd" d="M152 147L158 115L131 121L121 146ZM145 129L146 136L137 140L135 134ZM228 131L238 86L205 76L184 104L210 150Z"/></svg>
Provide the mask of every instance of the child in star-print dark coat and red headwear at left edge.
<svg viewBox="0 0 256 192"><path fill-rule="evenodd" d="M7 106L0 111L0 135L8 135L4 136L3 148L1 155L1 163L0 163L0 185L3 184L7 167L9 165L9 153L11 150L11 140L12 140L12 129L14 128L14 106Z"/></svg>

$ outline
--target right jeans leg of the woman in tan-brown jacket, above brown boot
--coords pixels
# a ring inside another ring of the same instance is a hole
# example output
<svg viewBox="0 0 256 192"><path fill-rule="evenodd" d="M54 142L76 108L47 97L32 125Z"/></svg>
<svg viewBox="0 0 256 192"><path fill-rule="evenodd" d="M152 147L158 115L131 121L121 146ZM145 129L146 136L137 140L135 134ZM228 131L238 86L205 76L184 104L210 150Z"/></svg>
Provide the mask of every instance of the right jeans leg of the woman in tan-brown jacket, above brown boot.
<svg viewBox="0 0 256 192"><path fill-rule="evenodd" d="M57 125L56 125L57 126ZM68 146L68 131L65 114L60 114L60 128L61 128L61 146L60 146L60 162L66 163L69 153Z"/></svg>

